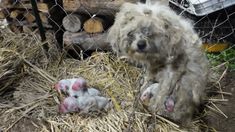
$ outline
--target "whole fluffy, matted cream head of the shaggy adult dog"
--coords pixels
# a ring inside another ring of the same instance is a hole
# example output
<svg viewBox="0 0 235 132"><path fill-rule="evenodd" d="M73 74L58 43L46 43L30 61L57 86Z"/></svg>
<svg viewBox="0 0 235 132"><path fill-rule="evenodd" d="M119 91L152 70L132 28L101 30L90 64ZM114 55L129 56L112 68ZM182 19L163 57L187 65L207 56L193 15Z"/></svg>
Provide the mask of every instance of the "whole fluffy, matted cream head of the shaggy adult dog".
<svg viewBox="0 0 235 132"><path fill-rule="evenodd" d="M177 20L179 17L165 6L124 4L109 30L108 39L119 55L138 61L164 60L178 51L178 43L183 41L184 27Z"/></svg>

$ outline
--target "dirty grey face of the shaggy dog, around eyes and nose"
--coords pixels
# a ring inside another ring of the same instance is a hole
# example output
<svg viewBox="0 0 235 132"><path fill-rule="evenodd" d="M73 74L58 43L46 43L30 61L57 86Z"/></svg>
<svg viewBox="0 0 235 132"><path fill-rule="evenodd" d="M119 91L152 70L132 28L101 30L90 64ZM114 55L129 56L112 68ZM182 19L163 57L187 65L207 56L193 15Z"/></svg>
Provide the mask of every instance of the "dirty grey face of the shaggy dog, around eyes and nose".
<svg viewBox="0 0 235 132"><path fill-rule="evenodd" d="M117 43L122 53L137 60L161 58L167 48L164 23L148 16L135 16L132 21L121 28L122 37Z"/></svg>

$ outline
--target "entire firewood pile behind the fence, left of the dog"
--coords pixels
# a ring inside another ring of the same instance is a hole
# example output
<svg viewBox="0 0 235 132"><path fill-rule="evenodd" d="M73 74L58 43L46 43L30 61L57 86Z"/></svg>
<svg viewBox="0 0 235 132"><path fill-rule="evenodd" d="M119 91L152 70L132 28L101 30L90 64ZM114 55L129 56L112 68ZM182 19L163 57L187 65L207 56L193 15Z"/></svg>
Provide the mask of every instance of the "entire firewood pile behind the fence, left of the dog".
<svg viewBox="0 0 235 132"><path fill-rule="evenodd" d="M106 31L113 24L116 12L124 2L139 0L61 0L60 7L66 13L58 25L64 30L64 47L76 45L86 50L109 50ZM59 12L50 12L50 0L37 0L39 14L44 28L51 29L49 16L60 17ZM2 0L0 19L7 19L15 32L26 32L37 28L30 0ZM55 31L56 32L56 31Z"/></svg>

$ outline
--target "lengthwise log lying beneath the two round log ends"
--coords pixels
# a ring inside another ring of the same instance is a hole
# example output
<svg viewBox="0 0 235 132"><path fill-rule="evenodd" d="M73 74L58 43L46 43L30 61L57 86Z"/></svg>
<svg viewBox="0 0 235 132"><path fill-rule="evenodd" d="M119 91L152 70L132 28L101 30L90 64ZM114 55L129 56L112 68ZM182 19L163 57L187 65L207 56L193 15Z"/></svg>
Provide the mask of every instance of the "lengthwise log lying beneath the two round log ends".
<svg viewBox="0 0 235 132"><path fill-rule="evenodd" d="M78 46L86 50L110 50L111 46L106 41L107 33L88 34L86 32L71 33L65 32L63 35L64 46Z"/></svg>

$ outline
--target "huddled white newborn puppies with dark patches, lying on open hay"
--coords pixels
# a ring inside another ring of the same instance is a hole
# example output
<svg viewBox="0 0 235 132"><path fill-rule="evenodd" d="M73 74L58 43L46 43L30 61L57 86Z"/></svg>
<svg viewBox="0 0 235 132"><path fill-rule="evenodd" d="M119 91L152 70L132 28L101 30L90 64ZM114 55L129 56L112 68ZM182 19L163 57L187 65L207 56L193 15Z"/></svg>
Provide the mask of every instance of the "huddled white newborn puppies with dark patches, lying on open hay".
<svg viewBox="0 0 235 132"><path fill-rule="evenodd" d="M107 111L112 106L111 99L102 97L99 90L89 88L87 81L82 77L62 79L55 84L54 88L60 96L65 96L59 104L60 113L88 114Z"/></svg>

